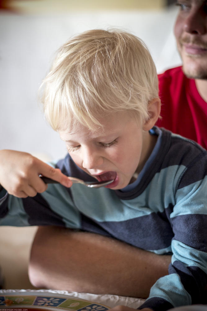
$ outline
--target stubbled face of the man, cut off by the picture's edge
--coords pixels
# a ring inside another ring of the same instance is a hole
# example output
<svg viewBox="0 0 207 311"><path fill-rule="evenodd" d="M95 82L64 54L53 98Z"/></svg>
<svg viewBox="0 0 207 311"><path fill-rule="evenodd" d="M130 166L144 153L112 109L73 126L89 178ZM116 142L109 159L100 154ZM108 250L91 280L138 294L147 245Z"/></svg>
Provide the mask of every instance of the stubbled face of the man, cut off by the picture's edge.
<svg viewBox="0 0 207 311"><path fill-rule="evenodd" d="M207 79L207 1L178 0L174 33L183 71L193 79Z"/></svg>

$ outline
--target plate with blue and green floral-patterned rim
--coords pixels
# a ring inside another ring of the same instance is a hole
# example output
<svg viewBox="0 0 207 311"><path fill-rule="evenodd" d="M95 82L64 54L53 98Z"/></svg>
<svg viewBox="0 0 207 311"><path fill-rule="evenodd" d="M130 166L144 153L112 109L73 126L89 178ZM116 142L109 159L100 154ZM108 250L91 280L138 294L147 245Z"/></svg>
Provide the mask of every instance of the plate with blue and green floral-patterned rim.
<svg viewBox="0 0 207 311"><path fill-rule="evenodd" d="M109 307L69 295L25 291L0 293L0 309L12 311L106 311Z"/></svg>

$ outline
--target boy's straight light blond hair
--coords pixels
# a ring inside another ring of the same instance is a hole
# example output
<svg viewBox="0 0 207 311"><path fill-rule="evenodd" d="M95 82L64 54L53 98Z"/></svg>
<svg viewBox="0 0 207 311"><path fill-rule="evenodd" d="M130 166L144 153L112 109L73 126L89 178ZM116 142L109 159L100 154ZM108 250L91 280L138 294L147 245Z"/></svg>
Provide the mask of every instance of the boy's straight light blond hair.
<svg viewBox="0 0 207 311"><path fill-rule="evenodd" d="M115 112L146 121L148 102L158 97L155 64L136 36L119 30L89 30L66 42L43 81L43 107L53 129L81 123L90 130Z"/></svg>

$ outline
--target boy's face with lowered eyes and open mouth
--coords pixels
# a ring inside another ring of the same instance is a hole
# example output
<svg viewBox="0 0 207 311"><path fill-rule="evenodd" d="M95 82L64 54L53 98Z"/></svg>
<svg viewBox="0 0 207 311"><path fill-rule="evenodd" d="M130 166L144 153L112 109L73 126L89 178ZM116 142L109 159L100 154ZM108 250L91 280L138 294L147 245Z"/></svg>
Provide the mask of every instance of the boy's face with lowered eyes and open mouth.
<svg viewBox="0 0 207 311"><path fill-rule="evenodd" d="M75 133L60 131L76 165L96 179L115 181L107 188L126 187L135 171L139 172L149 156L151 135L128 112L108 115L101 120L104 129L90 132L78 124ZM116 173L116 174L115 174Z"/></svg>

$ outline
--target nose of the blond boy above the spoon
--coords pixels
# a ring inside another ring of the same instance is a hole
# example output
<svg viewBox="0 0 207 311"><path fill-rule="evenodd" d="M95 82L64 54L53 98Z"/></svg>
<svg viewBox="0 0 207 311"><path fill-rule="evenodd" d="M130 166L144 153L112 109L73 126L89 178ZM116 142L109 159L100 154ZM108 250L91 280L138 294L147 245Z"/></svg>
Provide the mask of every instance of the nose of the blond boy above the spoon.
<svg viewBox="0 0 207 311"><path fill-rule="evenodd" d="M83 167L85 169L95 169L103 164L103 157L95 150L85 150L83 152Z"/></svg>

